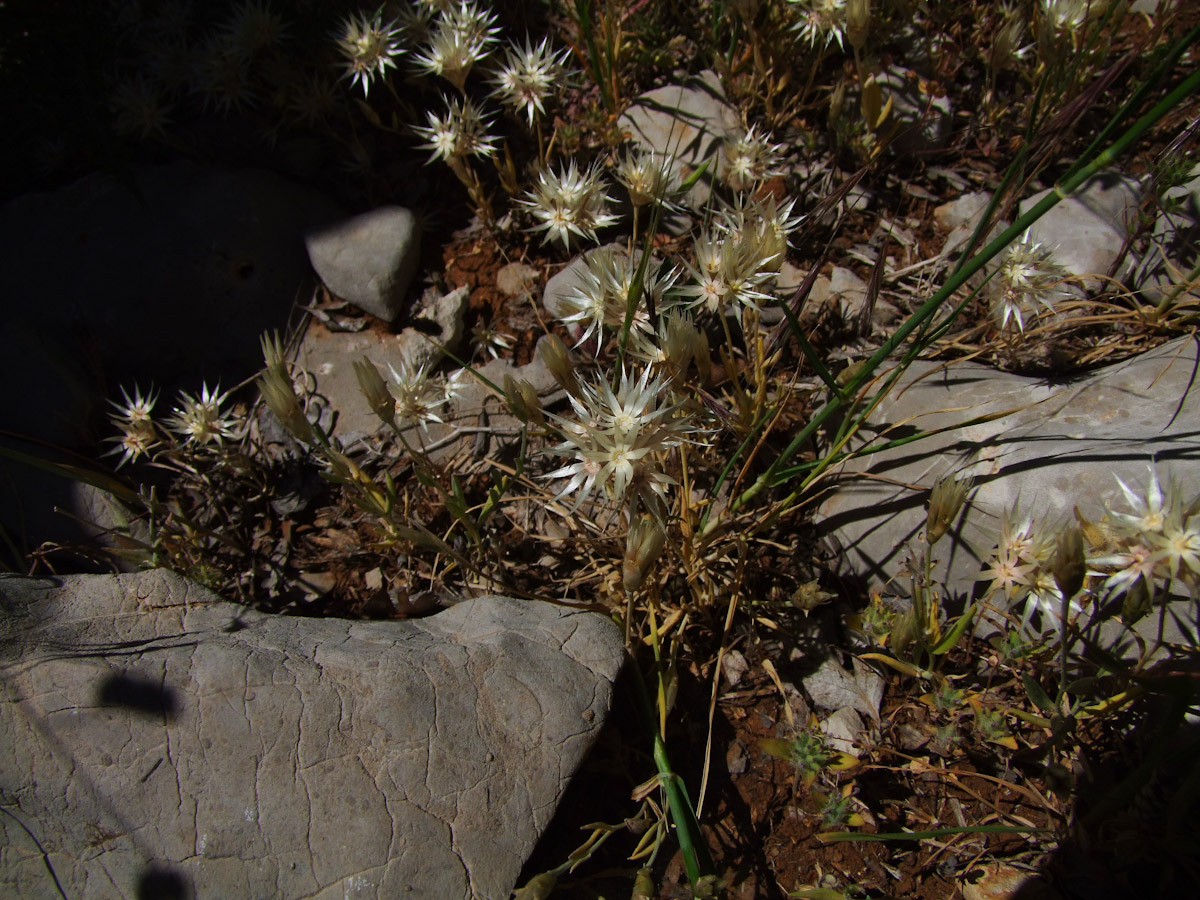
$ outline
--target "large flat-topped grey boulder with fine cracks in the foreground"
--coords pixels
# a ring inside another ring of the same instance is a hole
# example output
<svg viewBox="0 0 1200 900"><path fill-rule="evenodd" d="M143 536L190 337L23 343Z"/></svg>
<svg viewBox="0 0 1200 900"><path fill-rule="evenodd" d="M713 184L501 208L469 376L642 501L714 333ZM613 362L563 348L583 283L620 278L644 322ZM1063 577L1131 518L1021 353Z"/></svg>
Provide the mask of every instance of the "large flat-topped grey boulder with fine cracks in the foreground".
<svg viewBox="0 0 1200 900"><path fill-rule="evenodd" d="M305 619L157 570L0 607L5 896L508 898L623 659L499 596Z"/></svg>

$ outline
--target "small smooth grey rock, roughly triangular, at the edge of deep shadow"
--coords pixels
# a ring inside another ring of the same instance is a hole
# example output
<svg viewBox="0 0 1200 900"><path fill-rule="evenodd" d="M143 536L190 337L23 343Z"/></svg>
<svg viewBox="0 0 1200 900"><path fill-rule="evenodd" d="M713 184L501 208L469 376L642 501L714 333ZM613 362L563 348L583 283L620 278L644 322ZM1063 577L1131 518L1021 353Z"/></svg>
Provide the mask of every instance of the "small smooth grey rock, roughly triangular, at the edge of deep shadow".
<svg viewBox="0 0 1200 900"><path fill-rule="evenodd" d="M305 244L331 292L384 322L396 320L421 253L412 211L382 206L316 229Z"/></svg>

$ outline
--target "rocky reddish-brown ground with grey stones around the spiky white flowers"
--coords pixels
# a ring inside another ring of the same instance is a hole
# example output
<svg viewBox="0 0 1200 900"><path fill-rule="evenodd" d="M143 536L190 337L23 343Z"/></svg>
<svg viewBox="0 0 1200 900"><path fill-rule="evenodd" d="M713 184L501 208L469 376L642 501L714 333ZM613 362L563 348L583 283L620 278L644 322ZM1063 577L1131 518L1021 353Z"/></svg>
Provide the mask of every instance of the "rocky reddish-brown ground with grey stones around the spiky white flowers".
<svg viewBox="0 0 1200 900"><path fill-rule="evenodd" d="M578 47L563 16L545 24ZM1172 23L1182 34L1194 18L1184 8ZM967 44L968 25L946 26ZM1112 59L1133 65L1122 54L1135 56L1151 29L1126 20ZM671 46L670 65L631 64L619 115L595 84L572 85L556 136L564 151L610 161L617 145L671 149L690 173L744 133L748 112L772 113L786 151L755 196L794 199L804 220L762 317L764 334L784 335L770 396L788 397L755 450L767 458L827 391L787 337L782 306L835 373L870 355L953 272L1020 142L1006 131L1010 109L979 118L966 50L923 70L899 37L880 44L895 128L871 156L841 143L815 101L763 109L750 70L719 73ZM820 77L836 82L823 62ZM1085 96L1076 136L1039 148L1063 164L1004 196L997 222L1051 190L1115 107ZM1014 504L1054 527L1111 524L1114 510L1170 508L1170 482L1195 493L1200 356L1194 280L1183 277L1198 254L1195 156L1181 157L1189 168L1170 203L1153 181L1176 138L1189 146L1195 115L1193 97L1031 230L1061 266L1052 312L1025 310L1018 338L982 298L967 304L848 445L931 437L839 466L778 521L761 518L768 505L732 520L701 574L672 551L674 569L629 607L624 536L604 532L613 514L552 508L546 482L520 470L521 420L487 386L522 378L547 410L569 408L538 347L551 334L576 343L556 316L586 270L582 248L527 230L503 173L487 175L494 216L473 216L449 168L426 166L386 122L353 120L383 152L366 174L335 175L330 148L342 145L301 134L264 150L245 139L262 113L244 112L185 122L128 164L67 164L25 185L41 190L0 210L12 311L0 383L22 385L0 396L6 565L61 577L0 581L0 750L11 761L0 768L0 883L49 894L49 872L72 896L137 886L389 896L403 886L500 898L554 870L554 896L592 898L642 889L644 866L654 887L635 896L691 896L674 839L652 841L664 799L646 787L655 761L635 670L650 683L666 673L662 737L713 857L714 896L1069 900L1195 883L1190 576L1166 586L1162 619L1144 618L1123 644L1080 624L1078 680L1057 707L1057 652L1031 637L1056 619L1034 600L1028 612L985 602L977 587ZM524 162L534 143L524 132L510 149ZM664 259L691 259L706 203L725 190L701 175L653 238ZM601 238L624 248L628 234ZM394 475L427 534L392 540L258 401L251 379L274 330L307 418L355 464ZM721 329L710 330L715 346ZM461 361L482 377L439 407L442 421L408 431L428 469L364 401L364 358L443 379ZM714 362L703 390L732 409L750 366ZM223 468L164 454L160 466L114 469L100 456L113 437L106 403L121 388L152 380L166 407L175 390L217 379L248 436ZM740 438L722 434L691 476L712 484ZM530 458L535 476L557 464ZM59 478L71 466L96 474ZM760 470L752 460L743 475ZM929 488L952 473L974 478L971 500L926 551L924 577L947 630L972 600L979 611L936 671L913 672L894 665L892 631L872 640L871 616L912 608ZM1159 475L1165 500L1154 499ZM479 509L505 476L516 487L473 544L451 511L455 487ZM160 496L168 505L148 502ZM115 563L84 542L97 530ZM473 552L476 566L463 562ZM180 575L70 575L152 564ZM1093 581L1110 575L1112 564ZM484 599L497 593L514 599ZM631 616L626 658L612 622ZM1097 610L1097 629L1122 617L1135 618L1128 606ZM668 650L661 670L638 638L652 628ZM1154 654L1139 653L1159 637ZM1132 661L1122 668L1110 653ZM1068 708L1070 696L1087 704ZM833 836L845 833L858 838ZM589 834L604 840L581 853ZM587 859L564 871L572 853Z"/></svg>

